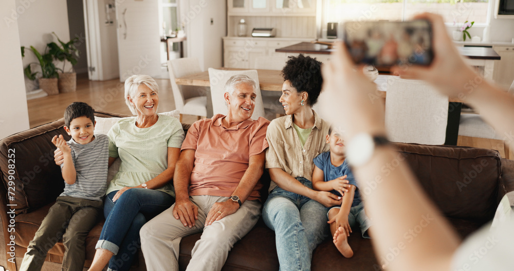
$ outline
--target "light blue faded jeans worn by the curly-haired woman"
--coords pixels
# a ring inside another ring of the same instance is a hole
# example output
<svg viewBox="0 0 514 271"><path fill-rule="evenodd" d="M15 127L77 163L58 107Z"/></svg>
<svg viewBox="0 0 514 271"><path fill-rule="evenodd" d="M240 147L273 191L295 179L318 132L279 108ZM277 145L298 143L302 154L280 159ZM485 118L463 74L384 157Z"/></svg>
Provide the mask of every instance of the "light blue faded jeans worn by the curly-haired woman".
<svg viewBox="0 0 514 271"><path fill-rule="evenodd" d="M308 188L310 180L297 177ZM264 223L275 231L280 270L310 270L314 249L328 233L327 208L309 197L276 187L264 203Z"/></svg>

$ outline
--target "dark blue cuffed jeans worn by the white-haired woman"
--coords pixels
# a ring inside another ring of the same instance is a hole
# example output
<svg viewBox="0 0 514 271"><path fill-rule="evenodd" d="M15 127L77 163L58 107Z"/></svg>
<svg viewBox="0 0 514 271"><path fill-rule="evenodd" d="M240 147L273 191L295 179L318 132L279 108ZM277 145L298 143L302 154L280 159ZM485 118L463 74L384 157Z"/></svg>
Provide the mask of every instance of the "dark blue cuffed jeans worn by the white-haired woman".
<svg viewBox="0 0 514 271"><path fill-rule="evenodd" d="M170 208L175 199L162 191L132 188L113 202L119 190L105 197L103 224L100 240L96 248L105 248L114 253L109 261L109 269L128 270L137 250L141 247L139 230L157 214Z"/></svg>

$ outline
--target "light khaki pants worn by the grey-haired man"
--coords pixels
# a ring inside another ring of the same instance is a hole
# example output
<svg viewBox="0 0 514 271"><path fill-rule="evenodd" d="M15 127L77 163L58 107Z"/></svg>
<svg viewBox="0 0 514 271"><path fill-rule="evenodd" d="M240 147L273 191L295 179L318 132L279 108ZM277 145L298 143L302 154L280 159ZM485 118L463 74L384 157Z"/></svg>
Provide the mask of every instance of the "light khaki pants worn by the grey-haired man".
<svg viewBox="0 0 514 271"><path fill-rule="evenodd" d="M245 201L235 213L204 227L212 205L224 202L228 197L202 195L189 198L198 206L194 227L185 227L174 218L173 204L141 228L141 249L148 271L178 270L180 240L202 231L191 251L187 270L221 270L235 242L241 240L259 219L261 203Z"/></svg>

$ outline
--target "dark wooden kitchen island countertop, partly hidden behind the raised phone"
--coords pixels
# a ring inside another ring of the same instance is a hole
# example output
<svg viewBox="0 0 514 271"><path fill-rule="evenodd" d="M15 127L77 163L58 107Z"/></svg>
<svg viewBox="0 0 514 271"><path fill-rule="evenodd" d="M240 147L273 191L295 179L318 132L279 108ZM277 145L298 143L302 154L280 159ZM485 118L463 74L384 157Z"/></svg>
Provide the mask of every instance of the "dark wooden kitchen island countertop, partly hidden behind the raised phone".
<svg viewBox="0 0 514 271"><path fill-rule="evenodd" d="M276 52L289 53L319 53L329 55L334 49L327 49L328 46L301 42L291 46L275 49ZM500 60L500 55L488 47L457 47L461 55L470 59Z"/></svg>

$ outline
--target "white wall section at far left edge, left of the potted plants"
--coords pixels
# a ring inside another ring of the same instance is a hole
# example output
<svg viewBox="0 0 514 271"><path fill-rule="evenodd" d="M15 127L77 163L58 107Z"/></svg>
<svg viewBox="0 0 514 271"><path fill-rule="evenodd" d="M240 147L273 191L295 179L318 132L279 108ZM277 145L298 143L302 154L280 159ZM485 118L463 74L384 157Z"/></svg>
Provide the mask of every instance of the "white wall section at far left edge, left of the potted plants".
<svg viewBox="0 0 514 271"><path fill-rule="evenodd" d="M0 22L0 33L2 33L0 59L5 63L0 65L0 82L3 82L0 91L3 97L0 99L0 138L29 129L20 35L18 23L15 20L17 16L15 10L14 0L0 1L0 18L2 18L2 22ZM11 15L14 15L14 20Z"/></svg>

